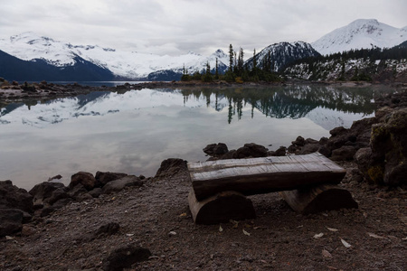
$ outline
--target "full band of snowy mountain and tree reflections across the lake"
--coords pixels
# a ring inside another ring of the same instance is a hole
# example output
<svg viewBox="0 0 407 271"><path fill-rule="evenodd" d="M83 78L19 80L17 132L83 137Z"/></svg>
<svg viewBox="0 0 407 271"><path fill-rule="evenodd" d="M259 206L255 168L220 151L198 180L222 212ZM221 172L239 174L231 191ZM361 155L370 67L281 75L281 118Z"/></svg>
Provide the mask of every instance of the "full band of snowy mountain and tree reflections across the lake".
<svg viewBox="0 0 407 271"><path fill-rule="evenodd" d="M374 97L381 91L374 88L293 85L281 87L202 88L202 89L142 89L128 92L92 92L75 98L59 98L42 103L28 101L0 108L0 125L21 121L25 125L43 126L65 119L83 116L104 116L146 107L178 105L206 106L220 114L227 112L228 124L244 114L255 116L259 111L266 117L297 119L308 117L316 108L332 114L374 113ZM386 90L389 92L390 90ZM250 110L251 108L251 110ZM225 110L223 110L225 109ZM17 112L18 111L18 112ZM250 113L249 113L250 112ZM314 116L315 117L315 116ZM326 117L327 118L327 117ZM19 119L19 120L18 120Z"/></svg>

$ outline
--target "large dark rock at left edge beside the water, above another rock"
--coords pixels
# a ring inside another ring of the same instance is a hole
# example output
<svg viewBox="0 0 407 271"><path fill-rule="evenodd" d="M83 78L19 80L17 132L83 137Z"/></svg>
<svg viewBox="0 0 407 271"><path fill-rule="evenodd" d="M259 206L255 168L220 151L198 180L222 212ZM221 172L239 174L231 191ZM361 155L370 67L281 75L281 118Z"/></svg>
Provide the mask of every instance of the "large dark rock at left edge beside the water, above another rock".
<svg viewBox="0 0 407 271"><path fill-rule="evenodd" d="M0 181L0 208L19 209L33 213L33 196L11 181Z"/></svg>

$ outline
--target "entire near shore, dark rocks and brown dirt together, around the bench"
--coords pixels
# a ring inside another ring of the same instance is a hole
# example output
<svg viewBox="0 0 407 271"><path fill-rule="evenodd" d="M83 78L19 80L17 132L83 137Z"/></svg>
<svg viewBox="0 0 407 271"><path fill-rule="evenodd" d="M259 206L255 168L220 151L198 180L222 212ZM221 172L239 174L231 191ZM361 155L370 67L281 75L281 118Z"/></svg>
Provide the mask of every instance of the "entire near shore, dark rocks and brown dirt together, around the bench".
<svg viewBox="0 0 407 271"><path fill-rule="evenodd" d="M407 268L407 94L376 102L375 117L356 121L349 129L336 127L329 138L298 136L292 145L275 152L254 143L237 150L228 150L222 143L204 148L210 160L318 151L345 167L342 185L354 193L359 210L302 216L289 210L276 193L253 197L257 220L197 226L185 201L190 183L181 159L163 161L150 178L80 172L71 176L68 187L43 182L30 192L3 181L0 267L403 270ZM339 236L333 236L333 228L340 229ZM357 236L367 229L367 236ZM319 231L325 231L327 238L313 238ZM339 237L354 247L337 245ZM373 256L365 256L366 251Z"/></svg>

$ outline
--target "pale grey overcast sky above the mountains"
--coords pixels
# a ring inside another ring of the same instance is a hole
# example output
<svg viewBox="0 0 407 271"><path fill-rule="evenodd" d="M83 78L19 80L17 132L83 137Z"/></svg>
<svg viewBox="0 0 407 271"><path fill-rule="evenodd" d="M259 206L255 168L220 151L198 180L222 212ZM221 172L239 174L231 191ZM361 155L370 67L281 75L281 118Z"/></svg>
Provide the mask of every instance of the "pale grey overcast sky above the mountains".
<svg viewBox="0 0 407 271"><path fill-rule="evenodd" d="M407 0L0 0L0 38L32 31L118 50L209 55L315 42L356 19L407 26Z"/></svg>

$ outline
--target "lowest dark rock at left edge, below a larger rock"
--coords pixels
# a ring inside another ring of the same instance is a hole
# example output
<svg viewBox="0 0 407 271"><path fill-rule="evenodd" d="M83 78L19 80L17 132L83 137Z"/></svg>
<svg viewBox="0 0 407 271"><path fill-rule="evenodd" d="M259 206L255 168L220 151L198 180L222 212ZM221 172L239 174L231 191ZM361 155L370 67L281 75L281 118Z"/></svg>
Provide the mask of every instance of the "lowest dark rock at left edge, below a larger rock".
<svg viewBox="0 0 407 271"><path fill-rule="evenodd" d="M0 237L12 235L23 229L23 210L0 209Z"/></svg>

